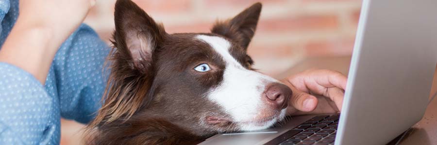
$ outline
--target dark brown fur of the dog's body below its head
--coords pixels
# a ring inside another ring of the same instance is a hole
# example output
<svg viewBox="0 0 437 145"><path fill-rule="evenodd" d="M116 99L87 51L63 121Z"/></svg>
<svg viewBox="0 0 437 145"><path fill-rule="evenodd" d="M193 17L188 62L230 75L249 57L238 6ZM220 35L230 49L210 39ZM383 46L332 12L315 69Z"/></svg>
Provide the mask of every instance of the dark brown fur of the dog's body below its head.
<svg viewBox="0 0 437 145"><path fill-rule="evenodd" d="M90 145L195 145L202 137L191 134L159 118L132 117L126 122L114 121L93 132ZM98 134L98 135L97 135Z"/></svg>

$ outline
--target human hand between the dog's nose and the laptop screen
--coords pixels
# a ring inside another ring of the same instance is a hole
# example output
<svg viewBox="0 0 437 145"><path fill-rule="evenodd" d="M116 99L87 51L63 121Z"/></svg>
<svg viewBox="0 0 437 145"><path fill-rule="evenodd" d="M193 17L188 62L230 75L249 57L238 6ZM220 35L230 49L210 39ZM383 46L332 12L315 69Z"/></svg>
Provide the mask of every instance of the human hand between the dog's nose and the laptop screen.
<svg viewBox="0 0 437 145"><path fill-rule="evenodd" d="M347 77L342 73L331 70L307 70L289 76L283 82L293 91L287 109L288 115L341 111L347 82Z"/></svg>

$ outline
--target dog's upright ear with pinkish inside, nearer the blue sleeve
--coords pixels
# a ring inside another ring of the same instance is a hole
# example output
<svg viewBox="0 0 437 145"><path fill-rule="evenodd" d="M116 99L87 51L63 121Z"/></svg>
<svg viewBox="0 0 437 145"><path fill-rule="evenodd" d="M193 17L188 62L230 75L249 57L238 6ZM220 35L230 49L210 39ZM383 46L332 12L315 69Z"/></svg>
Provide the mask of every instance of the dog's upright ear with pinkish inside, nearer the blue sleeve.
<svg viewBox="0 0 437 145"><path fill-rule="evenodd" d="M131 0L117 0L114 17L115 47L130 60L129 66L147 71L154 49L160 46L167 34L164 27Z"/></svg>

